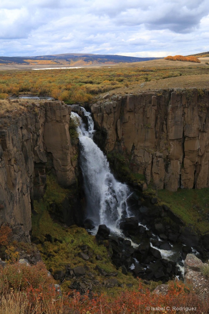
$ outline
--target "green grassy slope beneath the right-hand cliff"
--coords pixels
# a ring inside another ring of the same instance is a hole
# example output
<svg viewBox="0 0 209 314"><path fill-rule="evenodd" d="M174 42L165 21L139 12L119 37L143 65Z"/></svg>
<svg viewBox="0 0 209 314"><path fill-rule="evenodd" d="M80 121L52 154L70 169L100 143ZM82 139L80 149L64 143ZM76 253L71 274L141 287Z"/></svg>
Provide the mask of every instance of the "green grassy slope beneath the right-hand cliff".
<svg viewBox="0 0 209 314"><path fill-rule="evenodd" d="M159 190L157 195L187 226L193 226L200 234L209 232L209 188L178 189L176 192Z"/></svg>

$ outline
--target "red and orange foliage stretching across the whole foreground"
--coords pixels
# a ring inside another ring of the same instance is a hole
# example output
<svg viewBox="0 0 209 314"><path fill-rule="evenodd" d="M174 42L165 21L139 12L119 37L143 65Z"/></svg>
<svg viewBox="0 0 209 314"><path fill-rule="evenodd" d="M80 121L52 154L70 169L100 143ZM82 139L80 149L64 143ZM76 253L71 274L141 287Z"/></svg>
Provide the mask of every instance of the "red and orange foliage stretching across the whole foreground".
<svg viewBox="0 0 209 314"><path fill-rule="evenodd" d="M62 297L55 290L55 281L48 275L44 263L26 266L8 264L0 267L0 294L19 291L27 296L30 308L53 304L53 313L68 314L177 314L208 313L209 297L197 296L182 282L170 281L166 295L151 293L139 279L138 290L119 293L114 299L91 292L80 295L71 291ZM159 310L160 309L160 310ZM43 313L43 311L41 312ZM50 312L51 313L51 312ZM37 312L39 314L39 312Z"/></svg>

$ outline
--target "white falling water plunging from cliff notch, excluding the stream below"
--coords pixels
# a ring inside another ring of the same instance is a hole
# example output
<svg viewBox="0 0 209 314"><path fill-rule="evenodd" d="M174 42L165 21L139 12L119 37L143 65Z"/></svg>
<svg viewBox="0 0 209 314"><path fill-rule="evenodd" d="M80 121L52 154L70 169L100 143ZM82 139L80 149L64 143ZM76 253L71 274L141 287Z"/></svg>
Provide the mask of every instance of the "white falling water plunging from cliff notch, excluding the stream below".
<svg viewBox="0 0 209 314"><path fill-rule="evenodd" d="M81 145L81 169L84 178L88 217L96 226L107 225L112 232L121 234L119 222L128 217L127 198L130 191L126 184L112 175L106 156L92 140L94 123L91 114L81 108L88 119L86 130L82 119L74 112L71 117L79 121L78 133Z"/></svg>

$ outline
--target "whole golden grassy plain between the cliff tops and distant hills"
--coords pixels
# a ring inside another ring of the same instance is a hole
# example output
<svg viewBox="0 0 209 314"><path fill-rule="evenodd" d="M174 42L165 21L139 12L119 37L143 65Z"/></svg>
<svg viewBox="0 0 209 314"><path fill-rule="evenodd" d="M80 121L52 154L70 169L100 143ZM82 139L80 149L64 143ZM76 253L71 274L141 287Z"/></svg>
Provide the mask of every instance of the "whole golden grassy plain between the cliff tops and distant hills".
<svg viewBox="0 0 209 314"><path fill-rule="evenodd" d="M208 88L207 58L200 59L201 63L159 59L106 67L2 71L0 98L47 95L66 103L84 104L105 92L127 94L173 87Z"/></svg>

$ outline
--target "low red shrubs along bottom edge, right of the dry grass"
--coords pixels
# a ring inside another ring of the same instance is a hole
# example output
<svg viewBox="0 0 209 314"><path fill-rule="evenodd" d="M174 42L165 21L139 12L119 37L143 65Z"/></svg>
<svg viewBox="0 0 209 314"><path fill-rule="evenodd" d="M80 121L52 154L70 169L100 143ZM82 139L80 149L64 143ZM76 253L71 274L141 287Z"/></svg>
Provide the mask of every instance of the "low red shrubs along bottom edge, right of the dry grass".
<svg viewBox="0 0 209 314"><path fill-rule="evenodd" d="M139 280L138 290L126 290L114 299L109 299L106 295L99 296L97 294L89 297L87 294L80 295L80 293L76 292L70 296L69 300L64 299L64 305L70 313L75 314L159 313L155 308L163 308L160 310L160 313L175 314L185 312L206 314L209 309L208 297L203 299L201 296L197 296L180 281L170 281L166 295L151 293L149 289L144 288L144 285ZM183 311L182 308L184 308Z"/></svg>

